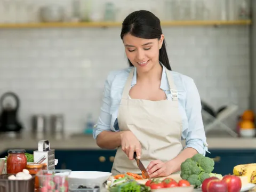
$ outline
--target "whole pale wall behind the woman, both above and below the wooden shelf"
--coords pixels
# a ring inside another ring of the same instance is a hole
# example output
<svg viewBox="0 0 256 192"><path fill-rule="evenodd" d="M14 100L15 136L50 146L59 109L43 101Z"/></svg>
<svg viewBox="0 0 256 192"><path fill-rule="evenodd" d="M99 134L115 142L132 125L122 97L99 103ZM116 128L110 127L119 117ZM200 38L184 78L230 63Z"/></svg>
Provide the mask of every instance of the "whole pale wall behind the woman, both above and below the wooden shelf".
<svg viewBox="0 0 256 192"><path fill-rule="evenodd" d="M97 122L108 73L128 66L120 39L121 25L15 27L41 22L38 10L52 5L51 2L0 0L0 23L5 23L0 29L0 95L7 91L18 95L19 117L25 130L31 130L31 116L35 114L63 114L65 131L81 132L89 114ZM152 11L163 23L250 19L250 1L239 0L62 0L54 4L65 9L64 22L122 22L127 14L140 9ZM12 27L3 27L8 26L6 23ZM162 27L172 69L194 79L202 101L213 110L231 103L238 106L230 116L233 129L237 115L253 106L250 28L250 25Z"/></svg>

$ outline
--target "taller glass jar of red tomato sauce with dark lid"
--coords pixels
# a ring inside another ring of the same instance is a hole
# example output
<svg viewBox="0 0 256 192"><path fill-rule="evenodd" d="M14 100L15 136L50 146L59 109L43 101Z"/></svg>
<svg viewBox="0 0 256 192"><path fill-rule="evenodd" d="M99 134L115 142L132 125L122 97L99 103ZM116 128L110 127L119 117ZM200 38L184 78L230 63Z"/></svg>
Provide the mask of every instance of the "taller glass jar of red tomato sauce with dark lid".
<svg viewBox="0 0 256 192"><path fill-rule="evenodd" d="M27 157L25 156L26 150L24 149L11 149L8 150L6 161L7 174L16 174L26 169Z"/></svg>

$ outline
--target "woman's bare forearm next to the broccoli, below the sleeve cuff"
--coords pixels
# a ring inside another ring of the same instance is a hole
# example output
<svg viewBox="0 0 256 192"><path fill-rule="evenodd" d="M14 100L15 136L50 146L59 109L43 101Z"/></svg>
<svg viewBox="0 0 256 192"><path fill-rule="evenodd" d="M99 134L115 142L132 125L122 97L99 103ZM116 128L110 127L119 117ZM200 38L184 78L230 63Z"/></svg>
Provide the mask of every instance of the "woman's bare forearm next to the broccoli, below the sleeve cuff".
<svg viewBox="0 0 256 192"><path fill-rule="evenodd" d="M196 149L188 147L186 149L184 149L183 151L181 151L181 153L179 155L177 155L177 157L175 157L174 159L172 159L171 161L174 161L175 163L171 163L171 165L173 166L173 170L172 173L180 171L180 166L181 163L185 162L185 160L187 158L191 158L194 155L196 155L198 152ZM169 161L169 162L171 162Z"/></svg>

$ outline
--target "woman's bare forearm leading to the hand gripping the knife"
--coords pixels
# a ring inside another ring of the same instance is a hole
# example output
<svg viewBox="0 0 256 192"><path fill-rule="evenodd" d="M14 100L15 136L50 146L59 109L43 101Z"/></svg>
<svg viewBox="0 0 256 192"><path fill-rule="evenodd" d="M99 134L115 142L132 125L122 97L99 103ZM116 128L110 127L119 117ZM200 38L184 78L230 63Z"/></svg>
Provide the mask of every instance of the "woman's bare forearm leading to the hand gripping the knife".
<svg viewBox="0 0 256 192"><path fill-rule="evenodd" d="M121 134L122 131L102 131L96 139L97 145L103 149L115 149L121 146Z"/></svg>

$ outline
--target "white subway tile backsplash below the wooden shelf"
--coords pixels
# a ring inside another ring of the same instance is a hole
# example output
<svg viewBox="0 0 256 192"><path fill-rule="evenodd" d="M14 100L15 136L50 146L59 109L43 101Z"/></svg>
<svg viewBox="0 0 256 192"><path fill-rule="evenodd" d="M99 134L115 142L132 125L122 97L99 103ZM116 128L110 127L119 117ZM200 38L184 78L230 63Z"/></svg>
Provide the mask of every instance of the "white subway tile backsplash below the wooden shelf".
<svg viewBox="0 0 256 192"><path fill-rule="evenodd" d="M214 108L249 107L249 28L164 27L173 70L194 79ZM0 95L14 91L26 129L35 113L63 113L68 131L82 131L86 114L99 115L109 71L128 66L121 28L2 29Z"/></svg>

